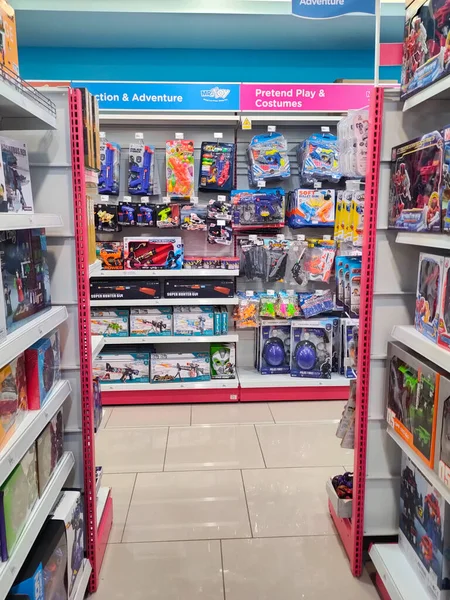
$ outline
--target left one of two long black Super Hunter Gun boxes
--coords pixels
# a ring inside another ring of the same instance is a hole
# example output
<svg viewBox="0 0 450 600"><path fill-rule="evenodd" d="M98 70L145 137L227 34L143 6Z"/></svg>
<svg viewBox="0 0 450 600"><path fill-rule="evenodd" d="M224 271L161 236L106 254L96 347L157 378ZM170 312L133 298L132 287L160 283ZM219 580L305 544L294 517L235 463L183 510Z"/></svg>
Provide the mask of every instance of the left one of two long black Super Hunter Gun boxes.
<svg viewBox="0 0 450 600"><path fill-rule="evenodd" d="M90 281L91 300L151 300L161 298L158 279L95 279Z"/></svg>

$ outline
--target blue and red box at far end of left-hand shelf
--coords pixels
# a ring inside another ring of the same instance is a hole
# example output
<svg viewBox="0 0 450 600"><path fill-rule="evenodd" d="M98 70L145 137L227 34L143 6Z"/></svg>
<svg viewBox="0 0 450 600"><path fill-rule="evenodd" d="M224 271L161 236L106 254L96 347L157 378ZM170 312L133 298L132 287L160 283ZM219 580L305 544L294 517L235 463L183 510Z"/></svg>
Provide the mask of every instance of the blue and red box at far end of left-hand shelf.
<svg viewBox="0 0 450 600"><path fill-rule="evenodd" d="M60 362L58 331L25 350L29 410L39 410L47 402L54 384L61 379Z"/></svg>

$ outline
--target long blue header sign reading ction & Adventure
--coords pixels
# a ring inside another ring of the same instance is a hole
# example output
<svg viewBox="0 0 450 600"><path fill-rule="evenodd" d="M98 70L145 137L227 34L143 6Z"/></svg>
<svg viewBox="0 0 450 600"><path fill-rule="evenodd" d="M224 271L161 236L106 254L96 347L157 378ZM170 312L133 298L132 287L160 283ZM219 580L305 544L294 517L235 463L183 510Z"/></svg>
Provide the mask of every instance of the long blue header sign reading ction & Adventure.
<svg viewBox="0 0 450 600"><path fill-rule="evenodd" d="M239 110L238 83L73 81L72 85L87 88L104 110Z"/></svg>

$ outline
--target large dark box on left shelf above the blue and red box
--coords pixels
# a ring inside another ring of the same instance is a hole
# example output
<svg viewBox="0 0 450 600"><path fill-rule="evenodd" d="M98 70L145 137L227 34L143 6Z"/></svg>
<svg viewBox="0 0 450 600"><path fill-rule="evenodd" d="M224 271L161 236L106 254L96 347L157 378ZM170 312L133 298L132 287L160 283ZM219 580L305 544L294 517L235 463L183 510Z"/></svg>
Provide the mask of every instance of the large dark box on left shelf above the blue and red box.
<svg viewBox="0 0 450 600"><path fill-rule="evenodd" d="M51 304L47 242L43 230L0 232L0 264L3 280L6 327Z"/></svg>

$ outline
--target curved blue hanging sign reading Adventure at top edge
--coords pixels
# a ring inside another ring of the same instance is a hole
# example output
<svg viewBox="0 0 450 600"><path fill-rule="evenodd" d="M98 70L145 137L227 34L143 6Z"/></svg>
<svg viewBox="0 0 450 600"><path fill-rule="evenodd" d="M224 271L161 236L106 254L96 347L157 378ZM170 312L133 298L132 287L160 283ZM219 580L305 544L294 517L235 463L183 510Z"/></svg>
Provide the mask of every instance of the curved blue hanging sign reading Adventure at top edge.
<svg viewBox="0 0 450 600"><path fill-rule="evenodd" d="M292 0L292 14L308 19L330 19L351 13L375 14L378 0Z"/></svg>

